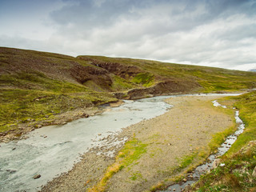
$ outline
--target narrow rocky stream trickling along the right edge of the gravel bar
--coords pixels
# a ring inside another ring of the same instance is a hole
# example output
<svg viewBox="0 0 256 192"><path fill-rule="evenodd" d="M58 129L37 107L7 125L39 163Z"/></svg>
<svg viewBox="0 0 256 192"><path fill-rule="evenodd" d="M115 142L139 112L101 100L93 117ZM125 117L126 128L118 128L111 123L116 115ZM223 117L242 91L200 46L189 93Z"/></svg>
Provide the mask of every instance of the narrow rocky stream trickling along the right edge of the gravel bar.
<svg viewBox="0 0 256 192"><path fill-rule="evenodd" d="M226 106L222 106L220 103L217 102L217 100L213 101L214 106L221 106L222 108L226 108ZM180 192L185 189L186 186L190 186L194 182L197 182L200 178L200 175L206 174L209 170L213 169L214 167L214 160L225 154L232 144L237 140L238 135L242 134L242 132L245 129L245 124L242 122L241 118L239 118L239 111L235 111L234 118L236 123L238 124L238 130L234 132L234 134L230 134L226 138L226 141L222 143L221 146L218 147L218 152L216 154L211 154L206 162L202 164L201 166L198 166L192 174L188 174L187 178L183 180L183 182L174 184L172 186L169 186L167 190L162 190L162 192L170 192L170 191L175 191L175 192ZM225 166L224 163L220 164L219 166ZM158 190L158 192L160 192Z"/></svg>

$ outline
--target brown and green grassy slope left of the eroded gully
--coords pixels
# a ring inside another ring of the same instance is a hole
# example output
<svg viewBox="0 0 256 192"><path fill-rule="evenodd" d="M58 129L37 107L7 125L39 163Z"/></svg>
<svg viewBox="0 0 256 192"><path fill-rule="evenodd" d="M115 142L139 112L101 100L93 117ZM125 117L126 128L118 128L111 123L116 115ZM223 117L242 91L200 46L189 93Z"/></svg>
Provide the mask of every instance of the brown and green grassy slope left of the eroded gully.
<svg viewBox="0 0 256 192"><path fill-rule="evenodd" d="M75 70L79 72L80 66L90 66L89 72L97 68L66 55L1 49L0 132L15 129L18 123L38 122L68 110L116 100L106 91L98 92L78 82Z"/></svg>

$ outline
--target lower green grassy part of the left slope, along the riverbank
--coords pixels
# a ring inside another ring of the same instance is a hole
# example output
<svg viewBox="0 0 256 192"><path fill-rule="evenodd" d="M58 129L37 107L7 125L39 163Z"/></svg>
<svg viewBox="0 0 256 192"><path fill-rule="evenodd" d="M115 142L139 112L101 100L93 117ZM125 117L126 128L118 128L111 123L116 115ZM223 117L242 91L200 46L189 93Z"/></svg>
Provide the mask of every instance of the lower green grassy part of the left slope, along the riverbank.
<svg viewBox="0 0 256 192"><path fill-rule="evenodd" d="M93 102L113 102L110 94L80 92L62 94L44 90L0 90L0 132L17 129L19 123L35 123L56 114L92 106Z"/></svg>

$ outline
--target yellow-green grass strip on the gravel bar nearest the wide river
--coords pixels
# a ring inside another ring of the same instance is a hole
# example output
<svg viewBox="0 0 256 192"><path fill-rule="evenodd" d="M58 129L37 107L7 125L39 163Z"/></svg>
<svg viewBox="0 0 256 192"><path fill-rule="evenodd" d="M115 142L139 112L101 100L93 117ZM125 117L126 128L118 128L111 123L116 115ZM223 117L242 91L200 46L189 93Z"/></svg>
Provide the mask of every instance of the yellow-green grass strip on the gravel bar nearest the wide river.
<svg viewBox="0 0 256 192"><path fill-rule="evenodd" d="M119 170L129 166L134 161L138 160L142 154L146 153L146 144L138 141L137 138L132 138L130 141L126 142L125 146L123 146L122 150L118 153L115 158L114 164L109 166L106 169L106 173L104 174L103 178L97 185L93 186L92 188L88 189L89 192L101 192L106 190L107 182L110 178L118 173ZM139 173L134 174L131 177L132 180L136 180L140 177Z"/></svg>

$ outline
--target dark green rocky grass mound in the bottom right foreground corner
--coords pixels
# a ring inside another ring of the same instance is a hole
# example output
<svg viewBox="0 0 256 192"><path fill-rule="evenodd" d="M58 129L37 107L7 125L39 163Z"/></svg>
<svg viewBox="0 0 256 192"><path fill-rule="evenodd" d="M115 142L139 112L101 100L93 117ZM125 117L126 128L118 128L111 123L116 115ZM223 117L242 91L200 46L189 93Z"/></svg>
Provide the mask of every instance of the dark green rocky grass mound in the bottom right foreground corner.
<svg viewBox="0 0 256 192"><path fill-rule="evenodd" d="M256 166L256 146L223 158L225 166L218 166L210 174L203 175L193 191L254 191L256 178L252 176Z"/></svg>

